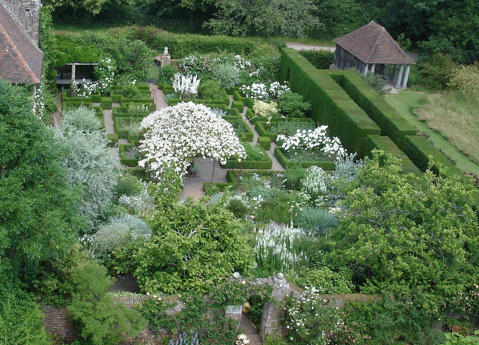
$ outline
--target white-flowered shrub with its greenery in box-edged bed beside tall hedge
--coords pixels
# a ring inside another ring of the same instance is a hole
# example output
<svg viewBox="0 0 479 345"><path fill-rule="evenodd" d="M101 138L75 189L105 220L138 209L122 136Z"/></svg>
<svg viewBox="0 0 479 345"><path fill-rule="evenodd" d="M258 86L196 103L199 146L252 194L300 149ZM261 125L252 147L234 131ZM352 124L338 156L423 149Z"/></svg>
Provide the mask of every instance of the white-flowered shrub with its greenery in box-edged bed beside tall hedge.
<svg viewBox="0 0 479 345"><path fill-rule="evenodd" d="M281 146L297 161L304 160L336 160L346 155L338 137L328 136L328 126L320 126L313 130L297 130L295 135L278 135L276 140L284 140Z"/></svg>

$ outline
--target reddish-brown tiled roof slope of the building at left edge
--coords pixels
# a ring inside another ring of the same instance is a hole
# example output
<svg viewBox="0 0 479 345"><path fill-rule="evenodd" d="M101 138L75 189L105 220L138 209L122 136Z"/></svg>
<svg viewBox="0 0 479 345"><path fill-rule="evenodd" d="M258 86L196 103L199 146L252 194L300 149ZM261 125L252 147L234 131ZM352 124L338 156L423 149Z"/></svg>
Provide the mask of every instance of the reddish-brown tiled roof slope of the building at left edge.
<svg viewBox="0 0 479 345"><path fill-rule="evenodd" d="M0 77L11 83L39 84L43 52L0 0Z"/></svg>

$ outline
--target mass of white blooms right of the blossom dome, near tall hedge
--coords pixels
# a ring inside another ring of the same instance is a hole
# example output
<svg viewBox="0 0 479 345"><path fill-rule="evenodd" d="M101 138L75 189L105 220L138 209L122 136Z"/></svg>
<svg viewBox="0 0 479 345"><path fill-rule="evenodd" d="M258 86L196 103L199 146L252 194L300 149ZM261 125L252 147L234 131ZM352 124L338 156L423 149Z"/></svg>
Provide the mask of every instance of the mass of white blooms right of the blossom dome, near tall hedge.
<svg viewBox="0 0 479 345"><path fill-rule="evenodd" d="M338 137L328 136L328 126L319 126L313 130L297 130L294 135L278 135L276 140L284 140L283 147L286 151L292 151L295 155L297 150L317 150L325 158L331 160L344 157L346 149L342 147Z"/></svg>

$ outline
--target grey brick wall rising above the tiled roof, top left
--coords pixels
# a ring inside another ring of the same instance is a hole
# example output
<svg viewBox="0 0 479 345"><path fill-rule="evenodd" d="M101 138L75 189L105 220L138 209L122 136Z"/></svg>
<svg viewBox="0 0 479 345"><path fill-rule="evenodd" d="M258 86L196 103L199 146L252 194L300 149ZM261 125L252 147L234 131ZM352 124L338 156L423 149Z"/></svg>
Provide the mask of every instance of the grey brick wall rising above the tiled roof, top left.
<svg viewBox="0 0 479 345"><path fill-rule="evenodd" d="M38 45L40 0L1 0Z"/></svg>

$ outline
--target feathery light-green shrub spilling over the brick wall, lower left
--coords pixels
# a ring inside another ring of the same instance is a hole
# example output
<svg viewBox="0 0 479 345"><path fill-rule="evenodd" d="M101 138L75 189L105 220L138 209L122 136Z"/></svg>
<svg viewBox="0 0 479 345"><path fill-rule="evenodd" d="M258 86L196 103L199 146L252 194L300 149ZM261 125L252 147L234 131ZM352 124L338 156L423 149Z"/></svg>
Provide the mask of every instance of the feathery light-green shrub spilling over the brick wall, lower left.
<svg viewBox="0 0 479 345"><path fill-rule="evenodd" d="M108 294L112 279L103 266L86 262L72 270L70 279L75 288L67 309L80 338L94 345L113 345L146 327L136 310Z"/></svg>

